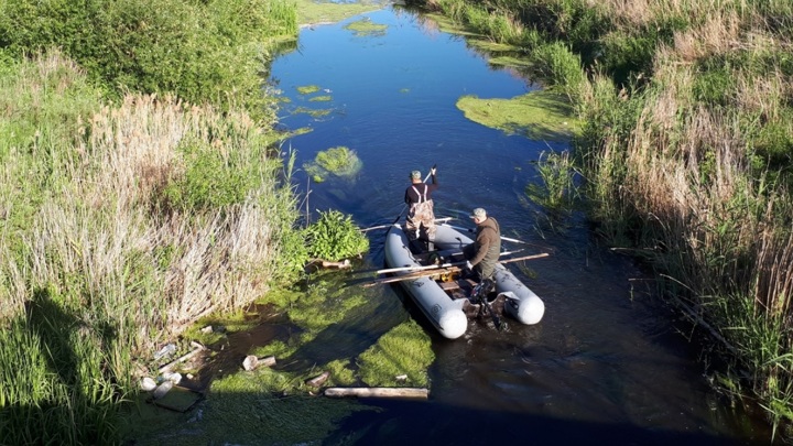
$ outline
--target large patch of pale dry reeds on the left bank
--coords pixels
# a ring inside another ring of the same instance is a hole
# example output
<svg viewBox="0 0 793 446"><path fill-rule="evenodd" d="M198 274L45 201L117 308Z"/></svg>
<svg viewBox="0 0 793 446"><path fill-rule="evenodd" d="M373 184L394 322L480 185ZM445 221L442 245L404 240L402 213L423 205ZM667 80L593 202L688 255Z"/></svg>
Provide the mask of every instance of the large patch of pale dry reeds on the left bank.
<svg viewBox="0 0 793 446"><path fill-rule="evenodd" d="M64 274L82 276L89 292L84 298L90 300L84 304L132 317L141 348L202 315L261 296L265 281L254 278L268 275L274 257L273 229L262 206L242 205L225 217L145 214L152 188L183 168L178 149L186 139L225 156L249 150L246 144L258 129L245 116L237 118L220 117L208 107L186 110L171 98L153 96L129 96L120 107L100 110L89 122L90 139L69 167L75 177L37 217L29 241L35 252L33 282L58 284ZM276 189L268 184L257 194L273 196ZM165 270L131 278L150 283L127 290L130 259L154 264L155 250L163 247L181 257ZM151 294L139 294L143 290ZM167 315L166 320L159 314Z"/></svg>

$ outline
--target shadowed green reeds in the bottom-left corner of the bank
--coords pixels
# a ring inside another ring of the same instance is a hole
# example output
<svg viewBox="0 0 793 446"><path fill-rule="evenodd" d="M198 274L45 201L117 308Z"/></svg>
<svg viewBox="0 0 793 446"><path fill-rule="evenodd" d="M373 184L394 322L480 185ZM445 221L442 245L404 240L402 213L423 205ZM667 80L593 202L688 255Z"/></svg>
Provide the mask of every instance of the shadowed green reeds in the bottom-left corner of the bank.
<svg viewBox="0 0 793 446"><path fill-rule="evenodd" d="M26 401L0 411L0 444L109 444L117 439L115 428L119 401L91 336L102 345L112 345L116 330L100 325L90 327L64 308L45 289L33 291L25 314L7 329L26 331L33 340L19 344L18 363L4 382L15 381ZM19 339L19 338L18 338ZM13 377L13 378L11 378Z"/></svg>

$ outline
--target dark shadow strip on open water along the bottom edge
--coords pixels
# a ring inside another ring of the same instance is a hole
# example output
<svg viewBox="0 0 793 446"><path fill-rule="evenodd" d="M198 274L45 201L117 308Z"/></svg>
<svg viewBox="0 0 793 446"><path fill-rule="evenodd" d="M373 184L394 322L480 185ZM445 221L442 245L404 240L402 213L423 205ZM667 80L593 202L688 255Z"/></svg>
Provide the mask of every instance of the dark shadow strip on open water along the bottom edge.
<svg viewBox="0 0 793 446"><path fill-rule="evenodd" d="M372 402L395 414L361 412L348 418L323 445L719 445L737 442L699 432L643 428L540 415L472 410L447 404ZM765 443L768 444L768 443Z"/></svg>

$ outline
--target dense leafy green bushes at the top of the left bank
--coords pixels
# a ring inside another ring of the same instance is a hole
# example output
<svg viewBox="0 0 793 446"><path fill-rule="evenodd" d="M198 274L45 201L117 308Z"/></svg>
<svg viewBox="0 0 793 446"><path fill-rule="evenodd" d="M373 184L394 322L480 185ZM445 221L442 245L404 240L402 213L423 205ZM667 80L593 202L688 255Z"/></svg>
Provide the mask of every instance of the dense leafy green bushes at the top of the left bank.
<svg viewBox="0 0 793 446"><path fill-rule="evenodd" d="M287 0L9 0L0 17L6 54L59 47L113 97L173 94L226 111L241 107L264 122L274 120L272 99L260 94L268 36L297 32Z"/></svg>

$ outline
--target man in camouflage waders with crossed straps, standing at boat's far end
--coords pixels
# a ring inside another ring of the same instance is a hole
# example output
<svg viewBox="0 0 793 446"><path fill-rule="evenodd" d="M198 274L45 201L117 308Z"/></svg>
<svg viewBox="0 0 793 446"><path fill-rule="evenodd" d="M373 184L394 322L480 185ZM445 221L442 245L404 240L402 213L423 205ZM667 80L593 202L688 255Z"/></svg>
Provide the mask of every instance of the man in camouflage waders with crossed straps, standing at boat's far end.
<svg viewBox="0 0 793 446"><path fill-rule="evenodd" d="M409 206L405 229L411 241L427 241L427 250L433 250L435 240L435 211L433 210L432 193L438 188L435 167L430 171L433 182L422 181L421 172L411 172L411 185L405 189L405 204Z"/></svg>

